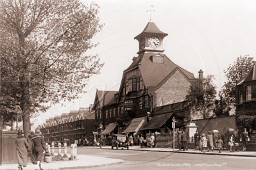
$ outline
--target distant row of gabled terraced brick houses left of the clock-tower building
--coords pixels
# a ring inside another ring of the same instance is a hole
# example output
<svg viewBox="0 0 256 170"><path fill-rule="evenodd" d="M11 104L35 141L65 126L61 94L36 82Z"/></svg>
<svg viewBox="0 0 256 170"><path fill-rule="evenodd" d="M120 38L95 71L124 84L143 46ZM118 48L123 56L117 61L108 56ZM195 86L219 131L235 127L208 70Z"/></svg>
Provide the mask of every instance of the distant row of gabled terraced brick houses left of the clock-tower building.
<svg viewBox="0 0 256 170"><path fill-rule="evenodd" d="M87 137L93 141L94 134L97 132L98 125L90 107L80 107L78 111L62 113L61 116L55 116L46 120L46 123L38 127L44 135L47 143L53 141L64 141L69 139L70 143L75 140Z"/></svg>

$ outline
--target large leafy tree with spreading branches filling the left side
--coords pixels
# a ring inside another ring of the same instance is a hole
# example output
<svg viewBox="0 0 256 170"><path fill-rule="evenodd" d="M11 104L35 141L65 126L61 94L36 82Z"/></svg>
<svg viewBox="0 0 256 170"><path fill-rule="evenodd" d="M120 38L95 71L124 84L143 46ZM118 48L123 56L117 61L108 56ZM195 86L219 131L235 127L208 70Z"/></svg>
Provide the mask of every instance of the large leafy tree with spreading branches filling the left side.
<svg viewBox="0 0 256 170"><path fill-rule="evenodd" d="M44 104L78 98L89 77L98 74L103 63L85 52L101 31L97 4L79 0L0 0L0 55L15 84L25 135L30 116L46 111Z"/></svg>

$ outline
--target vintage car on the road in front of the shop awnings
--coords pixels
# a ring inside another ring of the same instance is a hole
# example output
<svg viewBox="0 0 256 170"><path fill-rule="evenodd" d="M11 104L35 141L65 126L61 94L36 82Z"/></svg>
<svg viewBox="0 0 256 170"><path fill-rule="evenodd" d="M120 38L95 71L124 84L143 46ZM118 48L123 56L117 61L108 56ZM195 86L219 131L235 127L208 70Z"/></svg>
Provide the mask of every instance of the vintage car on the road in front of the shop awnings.
<svg viewBox="0 0 256 170"><path fill-rule="evenodd" d="M112 150L114 147L116 147L117 150L118 148L121 148L122 150L127 148L127 150L129 150L129 143L126 140L126 135L113 134L111 143Z"/></svg>

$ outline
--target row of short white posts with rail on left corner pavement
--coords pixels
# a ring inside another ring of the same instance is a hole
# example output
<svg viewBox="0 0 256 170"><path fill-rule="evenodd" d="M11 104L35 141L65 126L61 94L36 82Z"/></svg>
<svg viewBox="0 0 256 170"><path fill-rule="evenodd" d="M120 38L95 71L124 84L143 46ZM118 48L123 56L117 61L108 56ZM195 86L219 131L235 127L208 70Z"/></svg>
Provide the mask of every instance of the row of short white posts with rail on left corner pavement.
<svg viewBox="0 0 256 170"><path fill-rule="evenodd" d="M58 143L58 147L56 148L54 143L51 143L51 146L46 143L46 150L49 151L51 155L55 155L55 150L58 150L58 155L62 155L62 150L63 150L64 156L67 156L67 148L71 148L71 160L74 160L78 153L78 148L76 143L71 144L71 147L67 147L67 143L64 143L64 147L62 147L61 143Z"/></svg>

